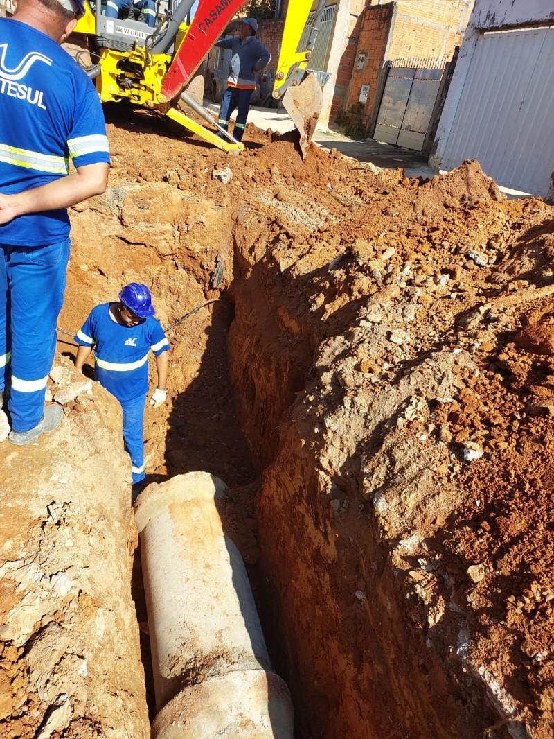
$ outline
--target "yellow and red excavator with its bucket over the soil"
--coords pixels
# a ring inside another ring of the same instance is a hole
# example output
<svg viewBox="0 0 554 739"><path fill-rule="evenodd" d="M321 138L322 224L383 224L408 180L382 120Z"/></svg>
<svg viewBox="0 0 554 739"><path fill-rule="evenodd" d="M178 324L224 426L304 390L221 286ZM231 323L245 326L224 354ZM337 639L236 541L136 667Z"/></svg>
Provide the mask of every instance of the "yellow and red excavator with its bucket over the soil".
<svg viewBox="0 0 554 739"><path fill-rule="evenodd" d="M247 0L168 0L164 18L157 6L156 27L142 13L129 9L127 18L107 18L106 0L86 0L86 12L75 34L82 51L75 55L95 82L102 102L128 101L159 112L224 151L239 153L244 145L213 120L188 85L202 60ZM298 50L307 26L312 0L290 0L284 23L281 52L271 94L280 100L300 134L305 157L321 112L323 100L318 78L308 71L325 0L309 25L305 48ZM125 12L125 11L123 11ZM190 110L189 110L190 109ZM191 116L191 112L196 114ZM209 128L203 123L207 123ZM219 136L213 132L219 131Z"/></svg>

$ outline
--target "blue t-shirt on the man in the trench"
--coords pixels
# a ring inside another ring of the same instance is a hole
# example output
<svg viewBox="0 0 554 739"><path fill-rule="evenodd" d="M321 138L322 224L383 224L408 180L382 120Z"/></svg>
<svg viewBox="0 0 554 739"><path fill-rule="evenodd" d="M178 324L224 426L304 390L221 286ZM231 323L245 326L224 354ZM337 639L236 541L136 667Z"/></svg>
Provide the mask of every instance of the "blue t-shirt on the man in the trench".
<svg viewBox="0 0 554 739"><path fill-rule="evenodd" d="M109 310L113 303L92 308L75 341L95 347L96 377L120 403L137 400L148 392L148 352L169 350L160 321L148 316L137 326L122 326Z"/></svg>

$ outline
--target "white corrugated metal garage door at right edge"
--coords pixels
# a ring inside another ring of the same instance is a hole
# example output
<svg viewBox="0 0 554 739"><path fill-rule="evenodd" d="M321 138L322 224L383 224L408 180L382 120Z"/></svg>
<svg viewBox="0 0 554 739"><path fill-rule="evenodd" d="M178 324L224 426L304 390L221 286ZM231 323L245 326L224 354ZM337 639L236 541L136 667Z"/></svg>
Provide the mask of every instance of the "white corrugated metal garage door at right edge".
<svg viewBox="0 0 554 739"><path fill-rule="evenodd" d="M554 171L554 27L484 33L442 157L477 159L499 185L546 195Z"/></svg>

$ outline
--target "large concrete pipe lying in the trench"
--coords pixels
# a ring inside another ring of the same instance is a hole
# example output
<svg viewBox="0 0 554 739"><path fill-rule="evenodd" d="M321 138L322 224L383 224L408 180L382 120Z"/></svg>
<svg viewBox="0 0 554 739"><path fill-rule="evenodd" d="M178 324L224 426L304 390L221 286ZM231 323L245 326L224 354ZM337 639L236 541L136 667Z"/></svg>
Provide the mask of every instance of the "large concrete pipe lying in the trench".
<svg viewBox="0 0 554 739"><path fill-rule="evenodd" d="M242 557L216 508L224 494L217 477L190 472L148 486L137 501L153 736L242 738L247 725L252 737L292 739L290 695L271 669Z"/></svg>

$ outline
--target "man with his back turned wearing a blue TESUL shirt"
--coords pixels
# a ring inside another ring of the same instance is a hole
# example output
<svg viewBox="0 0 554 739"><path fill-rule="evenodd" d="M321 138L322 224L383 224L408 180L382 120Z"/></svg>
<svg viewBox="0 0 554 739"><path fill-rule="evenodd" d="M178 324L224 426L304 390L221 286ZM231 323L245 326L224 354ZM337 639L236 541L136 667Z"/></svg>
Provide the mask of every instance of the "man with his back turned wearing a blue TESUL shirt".
<svg viewBox="0 0 554 739"><path fill-rule="evenodd" d="M66 208L108 179L98 93L60 47L83 13L82 0L17 0L0 18L0 407L7 401L18 446L64 416L44 396L69 260Z"/></svg>

